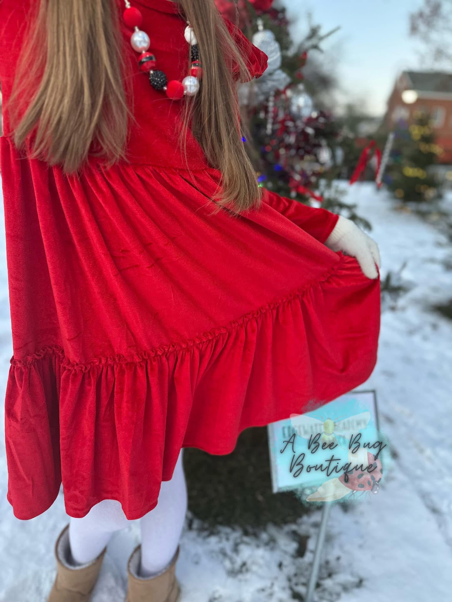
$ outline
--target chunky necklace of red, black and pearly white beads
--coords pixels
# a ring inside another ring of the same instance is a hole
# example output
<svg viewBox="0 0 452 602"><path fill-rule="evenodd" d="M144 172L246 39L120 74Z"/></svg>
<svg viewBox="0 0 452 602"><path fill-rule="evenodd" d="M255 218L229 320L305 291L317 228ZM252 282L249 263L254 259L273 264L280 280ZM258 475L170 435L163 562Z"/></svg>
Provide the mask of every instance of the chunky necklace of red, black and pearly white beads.
<svg viewBox="0 0 452 602"><path fill-rule="evenodd" d="M191 46L192 66L190 68L190 75L187 75L182 81L178 81L178 79L168 81L163 71L155 69L157 66L155 56L152 52L148 52L151 40L149 40L149 36L145 31L139 29L143 22L143 15L138 8L131 7L128 0L124 0L124 4L125 11L122 15L124 22L128 27L134 29L130 38L131 46L134 51L140 53L138 61L140 71L148 73L149 82L152 87L155 90L164 90L166 96L173 101L180 101L184 95L195 96L199 90L199 79L202 78L202 65L199 62L198 40L196 40L190 23L187 23L184 33L187 43Z"/></svg>

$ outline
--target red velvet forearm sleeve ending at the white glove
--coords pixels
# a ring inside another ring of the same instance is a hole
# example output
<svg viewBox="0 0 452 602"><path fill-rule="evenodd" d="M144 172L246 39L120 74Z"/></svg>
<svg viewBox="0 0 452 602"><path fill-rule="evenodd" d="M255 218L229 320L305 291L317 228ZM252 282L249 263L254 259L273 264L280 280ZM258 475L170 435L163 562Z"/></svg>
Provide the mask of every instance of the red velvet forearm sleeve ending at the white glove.
<svg viewBox="0 0 452 602"><path fill-rule="evenodd" d="M336 226L337 219L339 219L339 216L327 211L327 209L309 207L297 200L287 199L266 189L262 200L291 222L300 226L320 243L327 240L334 226Z"/></svg>

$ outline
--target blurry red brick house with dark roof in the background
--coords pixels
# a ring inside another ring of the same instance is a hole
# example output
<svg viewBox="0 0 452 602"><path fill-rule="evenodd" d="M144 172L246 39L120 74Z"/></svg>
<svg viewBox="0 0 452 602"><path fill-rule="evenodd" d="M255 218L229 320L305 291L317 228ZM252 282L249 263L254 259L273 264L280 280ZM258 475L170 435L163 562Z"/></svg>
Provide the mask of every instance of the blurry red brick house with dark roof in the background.
<svg viewBox="0 0 452 602"><path fill-rule="evenodd" d="M444 149L439 163L452 164L452 73L403 71L388 99L386 127L411 123L416 111L427 110L436 130L436 143Z"/></svg>

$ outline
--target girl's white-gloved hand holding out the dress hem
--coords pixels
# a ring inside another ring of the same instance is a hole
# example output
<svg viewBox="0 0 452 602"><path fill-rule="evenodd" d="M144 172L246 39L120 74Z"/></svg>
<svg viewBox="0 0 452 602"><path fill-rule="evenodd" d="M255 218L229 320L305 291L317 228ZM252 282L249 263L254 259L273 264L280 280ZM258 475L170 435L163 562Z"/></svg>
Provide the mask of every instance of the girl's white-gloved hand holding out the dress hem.
<svg viewBox="0 0 452 602"><path fill-rule="evenodd" d="M375 267L375 264L378 268L381 265L378 245L351 220L339 216L325 245L334 252L342 251L345 255L355 257L365 276L372 280L378 278Z"/></svg>

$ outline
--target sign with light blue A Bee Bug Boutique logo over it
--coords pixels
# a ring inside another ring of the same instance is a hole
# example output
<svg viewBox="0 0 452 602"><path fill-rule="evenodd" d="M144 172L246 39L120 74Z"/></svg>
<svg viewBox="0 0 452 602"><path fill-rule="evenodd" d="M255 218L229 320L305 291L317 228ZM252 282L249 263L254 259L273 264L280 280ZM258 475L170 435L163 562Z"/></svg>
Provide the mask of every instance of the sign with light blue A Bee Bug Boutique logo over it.
<svg viewBox="0 0 452 602"><path fill-rule="evenodd" d="M348 393L307 414L268 426L273 491L303 501L378 493L387 448L378 431L375 391Z"/></svg>

